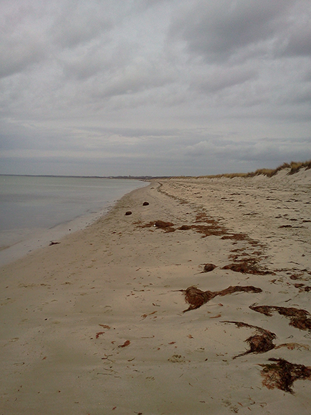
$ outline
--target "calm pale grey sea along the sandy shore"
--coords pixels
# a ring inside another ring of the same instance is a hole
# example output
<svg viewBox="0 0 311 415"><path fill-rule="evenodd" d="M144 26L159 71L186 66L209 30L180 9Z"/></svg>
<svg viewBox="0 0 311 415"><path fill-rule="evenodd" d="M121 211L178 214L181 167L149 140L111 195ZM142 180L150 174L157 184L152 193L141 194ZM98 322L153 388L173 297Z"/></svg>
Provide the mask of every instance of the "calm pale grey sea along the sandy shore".
<svg viewBox="0 0 311 415"><path fill-rule="evenodd" d="M147 184L121 178L0 175L0 265L84 229L124 194Z"/></svg>

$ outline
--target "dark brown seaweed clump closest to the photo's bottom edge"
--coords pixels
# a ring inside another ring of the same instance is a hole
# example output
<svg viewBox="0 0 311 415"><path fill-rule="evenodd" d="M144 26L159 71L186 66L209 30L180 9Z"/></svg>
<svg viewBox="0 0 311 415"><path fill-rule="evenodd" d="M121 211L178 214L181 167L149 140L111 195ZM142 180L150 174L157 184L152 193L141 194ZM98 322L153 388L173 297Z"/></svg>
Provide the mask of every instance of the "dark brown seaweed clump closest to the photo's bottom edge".
<svg viewBox="0 0 311 415"><path fill-rule="evenodd" d="M263 385L268 389L277 387L293 394L292 385L295 380L311 380L311 367L296 365L284 359L270 358L269 360L275 363L260 365L263 367L261 371L261 376L264 378Z"/></svg>

